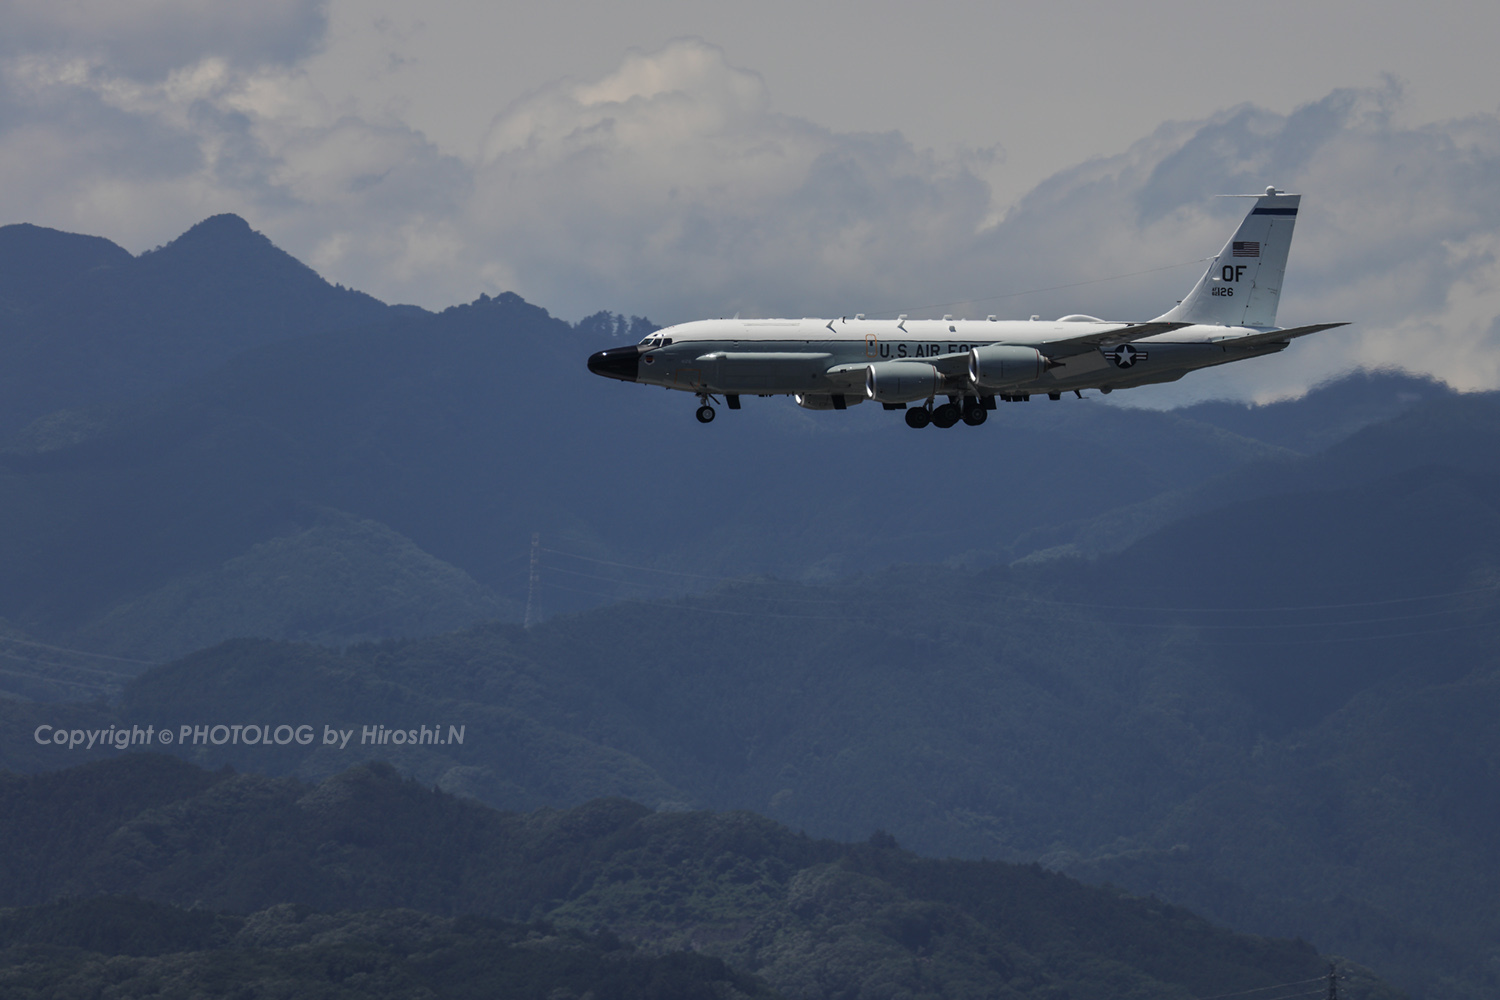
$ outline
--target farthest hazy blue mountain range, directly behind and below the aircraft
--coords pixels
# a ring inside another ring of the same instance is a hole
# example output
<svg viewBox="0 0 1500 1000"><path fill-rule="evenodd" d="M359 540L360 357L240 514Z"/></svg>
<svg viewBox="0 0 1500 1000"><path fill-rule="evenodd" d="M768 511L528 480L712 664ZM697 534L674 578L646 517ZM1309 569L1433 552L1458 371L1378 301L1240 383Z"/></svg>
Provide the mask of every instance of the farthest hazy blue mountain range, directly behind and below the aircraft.
<svg viewBox="0 0 1500 1000"><path fill-rule="evenodd" d="M872 408L830 420L750 400L704 429L688 397L584 369L640 319L570 327L510 295L435 316L386 307L230 216L141 258L34 226L0 229L0 246L68 276L6 292L20 318L0 349L22 388L0 451L0 618L144 661L243 634L516 621L531 532L656 570L549 556L532 595L544 613L705 577L1119 549L1218 474L1444 393L1365 375L1252 411L1070 397L950 435L902 433ZM78 331L80 315L108 321ZM75 373L96 340L111 352ZM213 360L226 361L204 372Z"/></svg>

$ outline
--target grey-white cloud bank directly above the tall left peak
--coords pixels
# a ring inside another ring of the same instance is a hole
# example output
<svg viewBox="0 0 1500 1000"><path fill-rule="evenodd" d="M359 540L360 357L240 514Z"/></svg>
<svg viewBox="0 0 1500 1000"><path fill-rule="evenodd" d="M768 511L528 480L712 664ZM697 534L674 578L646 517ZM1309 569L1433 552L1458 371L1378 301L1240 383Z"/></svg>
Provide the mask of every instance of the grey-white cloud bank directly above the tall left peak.
<svg viewBox="0 0 1500 1000"><path fill-rule="evenodd" d="M204 58L138 81L18 57L0 61L0 177L6 222L140 250L236 211L342 267L336 280L390 295L453 267L452 253L432 258L432 234L462 219L471 169L399 121L332 108L297 67Z"/></svg>

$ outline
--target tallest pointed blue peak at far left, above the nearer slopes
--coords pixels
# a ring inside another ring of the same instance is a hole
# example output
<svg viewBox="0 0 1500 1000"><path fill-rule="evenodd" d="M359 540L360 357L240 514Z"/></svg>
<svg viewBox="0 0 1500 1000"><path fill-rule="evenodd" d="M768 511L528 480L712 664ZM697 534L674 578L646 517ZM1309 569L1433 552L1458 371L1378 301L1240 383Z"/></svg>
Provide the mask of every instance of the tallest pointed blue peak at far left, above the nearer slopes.
<svg viewBox="0 0 1500 1000"><path fill-rule="evenodd" d="M130 256L108 240L0 226L0 435L60 409L182 384L236 354L423 315L336 288L232 214Z"/></svg>

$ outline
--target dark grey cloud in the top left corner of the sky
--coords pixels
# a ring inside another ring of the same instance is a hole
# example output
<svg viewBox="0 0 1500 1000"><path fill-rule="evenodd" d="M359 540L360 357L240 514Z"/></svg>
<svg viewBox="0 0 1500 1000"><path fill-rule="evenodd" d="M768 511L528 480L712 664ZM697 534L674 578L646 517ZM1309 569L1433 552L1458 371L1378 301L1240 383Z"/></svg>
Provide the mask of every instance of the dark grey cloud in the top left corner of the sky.
<svg viewBox="0 0 1500 1000"><path fill-rule="evenodd" d="M204 58L291 64L315 49L327 0L9 0L0 55L90 61L134 79L162 79Z"/></svg>

